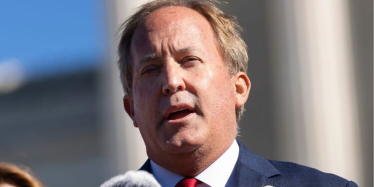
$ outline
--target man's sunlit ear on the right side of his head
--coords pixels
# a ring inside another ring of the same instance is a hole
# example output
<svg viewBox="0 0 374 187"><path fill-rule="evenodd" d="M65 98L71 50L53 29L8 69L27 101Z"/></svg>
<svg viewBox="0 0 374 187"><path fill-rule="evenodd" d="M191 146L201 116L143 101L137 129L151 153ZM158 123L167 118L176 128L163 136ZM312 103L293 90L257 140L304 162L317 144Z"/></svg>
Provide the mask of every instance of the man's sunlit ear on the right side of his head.
<svg viewBox="0 0 374 187"><path fill-rule="evenodd" d="M240 71L235 73L233 81L235 84L235 107L240 108L247 102L249 90L251 89L251 81L247 74Z"/></svg>

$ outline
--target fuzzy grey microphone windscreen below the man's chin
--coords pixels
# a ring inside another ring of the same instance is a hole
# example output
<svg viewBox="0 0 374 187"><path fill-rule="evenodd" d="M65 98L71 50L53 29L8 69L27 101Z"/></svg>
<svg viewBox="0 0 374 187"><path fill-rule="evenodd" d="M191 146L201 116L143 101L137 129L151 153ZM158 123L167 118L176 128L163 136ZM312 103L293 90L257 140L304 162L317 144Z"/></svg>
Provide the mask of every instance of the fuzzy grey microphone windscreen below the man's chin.
<svg viewBox="0 0 374 187"><path fill-rule="evenodd" d="M103 183L100 187L161 187L152 174L146 171L128 171Z"/></svg>

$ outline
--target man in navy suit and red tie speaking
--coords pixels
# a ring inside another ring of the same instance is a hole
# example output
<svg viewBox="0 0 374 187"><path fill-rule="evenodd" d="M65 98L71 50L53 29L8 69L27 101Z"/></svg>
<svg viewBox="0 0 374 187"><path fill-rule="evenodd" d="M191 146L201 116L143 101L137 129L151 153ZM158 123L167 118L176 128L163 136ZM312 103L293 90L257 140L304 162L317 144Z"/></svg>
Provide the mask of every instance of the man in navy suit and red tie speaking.
<svg viewBox="0 0 374 187"><path fill-rule="evenodd" d="M155 0L124 24L119 66L126 112L163 187L355 187L268 161L235 139L247 101L247 50L236 20L211 1Z"/></svg>

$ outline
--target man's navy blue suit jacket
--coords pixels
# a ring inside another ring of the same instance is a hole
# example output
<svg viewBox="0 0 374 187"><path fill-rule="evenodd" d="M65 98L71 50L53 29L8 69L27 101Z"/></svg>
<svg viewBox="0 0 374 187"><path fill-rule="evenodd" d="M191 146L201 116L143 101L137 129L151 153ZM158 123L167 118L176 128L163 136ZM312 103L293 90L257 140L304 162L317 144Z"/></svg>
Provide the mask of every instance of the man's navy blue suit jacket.
<svg viewBox="0 0 374 187"><path fill-rule="evenodd" d="M238 141L237 184L239 187L357 187L333 174L295 163L266 160L250 152ZM140 170L152 173L150 160Z"/></svg>

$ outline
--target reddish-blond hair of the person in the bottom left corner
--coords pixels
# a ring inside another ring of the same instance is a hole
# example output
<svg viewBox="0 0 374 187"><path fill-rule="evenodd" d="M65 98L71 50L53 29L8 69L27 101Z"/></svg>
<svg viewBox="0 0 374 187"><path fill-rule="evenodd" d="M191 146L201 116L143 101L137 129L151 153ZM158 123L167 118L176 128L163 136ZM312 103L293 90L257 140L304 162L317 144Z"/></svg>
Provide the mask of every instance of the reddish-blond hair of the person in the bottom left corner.
<svg viewBox="0 0 374 187"><path fill-rule="evenodd" d="M0 184L9 184L15 187L43 187L29 171L9 163L0 163Z"/></svg>

